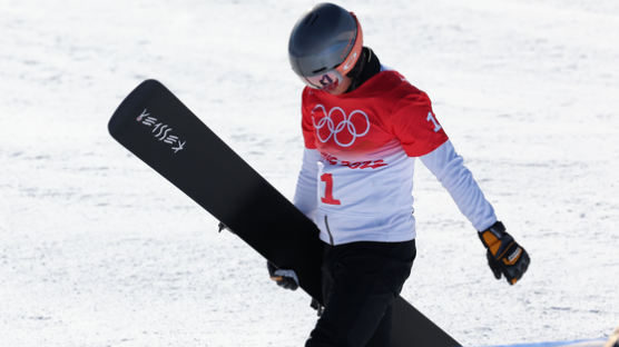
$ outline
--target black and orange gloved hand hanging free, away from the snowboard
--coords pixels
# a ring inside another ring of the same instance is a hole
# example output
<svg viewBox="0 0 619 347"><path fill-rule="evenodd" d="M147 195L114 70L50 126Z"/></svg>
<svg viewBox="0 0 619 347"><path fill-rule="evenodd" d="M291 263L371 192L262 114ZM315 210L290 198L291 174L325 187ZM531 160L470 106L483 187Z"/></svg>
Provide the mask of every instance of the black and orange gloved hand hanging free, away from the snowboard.
<svg viewBox="0 0 619 347"><path fill-rule="evenodd" d="M503 275L510 285L515 285L529 268L529 254L505 232L500 221L479 232L479 236L488 249L488 265L494 277L501 279Z"/></svg>

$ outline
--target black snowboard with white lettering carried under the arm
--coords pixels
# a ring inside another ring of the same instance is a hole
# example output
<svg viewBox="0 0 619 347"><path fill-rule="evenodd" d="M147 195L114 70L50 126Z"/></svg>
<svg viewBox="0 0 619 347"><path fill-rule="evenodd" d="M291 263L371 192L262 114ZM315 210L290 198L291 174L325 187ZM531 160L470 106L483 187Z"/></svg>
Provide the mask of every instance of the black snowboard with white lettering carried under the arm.
<svg viewBox="0 0 619 347"><path fill-rule="evenodd" d="M108 125L111 136L322 303L323 244L316 226L208 129L167 88L139 85ZM265 275L266 276L266 275ZM461 346L403 298L393 346Z"/></svg>

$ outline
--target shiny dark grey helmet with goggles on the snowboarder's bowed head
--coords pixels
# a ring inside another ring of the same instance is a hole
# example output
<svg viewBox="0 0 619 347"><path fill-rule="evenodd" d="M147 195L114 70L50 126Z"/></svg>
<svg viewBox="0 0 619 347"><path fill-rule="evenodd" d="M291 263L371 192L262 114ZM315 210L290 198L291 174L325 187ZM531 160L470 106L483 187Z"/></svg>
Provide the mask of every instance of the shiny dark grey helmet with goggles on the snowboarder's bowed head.
<svg viewBox="0 0 619 347"><path fill-rule="evenodd" d="M346 75L361 57L362 46L356 17L336 4L320 3L294 26L288 57L293 70L306 81L334 69Z"/></svg>

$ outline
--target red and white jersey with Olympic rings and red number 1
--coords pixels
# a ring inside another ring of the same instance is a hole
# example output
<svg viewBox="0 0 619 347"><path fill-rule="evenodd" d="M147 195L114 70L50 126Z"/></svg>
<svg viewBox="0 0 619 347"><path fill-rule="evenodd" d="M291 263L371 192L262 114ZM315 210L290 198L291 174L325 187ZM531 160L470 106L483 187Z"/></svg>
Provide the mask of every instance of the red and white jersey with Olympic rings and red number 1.
<svg viewBox="0 0 619 347"><path fill-rule="evenodd" d="M340 96L305 88L302 113L306 150L295 205L314 218L321 239L413 239L414 157L451 147L425 92L381 71Z"/></svg>

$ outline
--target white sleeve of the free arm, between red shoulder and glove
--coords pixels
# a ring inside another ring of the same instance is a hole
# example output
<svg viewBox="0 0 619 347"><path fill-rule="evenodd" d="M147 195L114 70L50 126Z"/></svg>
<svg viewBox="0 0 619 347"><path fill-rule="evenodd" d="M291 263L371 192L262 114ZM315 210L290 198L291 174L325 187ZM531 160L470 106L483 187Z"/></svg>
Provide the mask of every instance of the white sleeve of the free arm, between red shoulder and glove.
<svg viewBox="0 0 619 347"><path fill-rule="evenodd" d="M451 141L448 140L420 159L449 191L460 211L476 230L485 230L497 221L492 205L483 196Z"/></svg>

